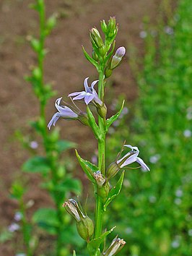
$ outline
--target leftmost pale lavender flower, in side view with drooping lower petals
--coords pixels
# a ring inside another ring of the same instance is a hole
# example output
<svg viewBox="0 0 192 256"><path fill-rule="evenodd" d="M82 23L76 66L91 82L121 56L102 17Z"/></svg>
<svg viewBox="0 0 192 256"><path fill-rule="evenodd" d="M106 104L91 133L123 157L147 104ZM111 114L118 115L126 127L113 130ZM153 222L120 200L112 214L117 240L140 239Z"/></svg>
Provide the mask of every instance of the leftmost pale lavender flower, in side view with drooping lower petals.
<svg viewBox="0 0 192 256"><path fill-rule="evenodd" d="M64 119L78 119L77 113L75 113L73 110L71 110L71 108L69 108L68 106L59 106L60 102L61 102L61 98L58 98L55 103L55 106L56 106L56 109L58 110L58 112L56 112L56 114L53 114L51 121L49 121L49 123L48 123L48 129L51 129L52 124L53 124L53 126L55 126L56 121L60 117L62 117Z"/></svg>

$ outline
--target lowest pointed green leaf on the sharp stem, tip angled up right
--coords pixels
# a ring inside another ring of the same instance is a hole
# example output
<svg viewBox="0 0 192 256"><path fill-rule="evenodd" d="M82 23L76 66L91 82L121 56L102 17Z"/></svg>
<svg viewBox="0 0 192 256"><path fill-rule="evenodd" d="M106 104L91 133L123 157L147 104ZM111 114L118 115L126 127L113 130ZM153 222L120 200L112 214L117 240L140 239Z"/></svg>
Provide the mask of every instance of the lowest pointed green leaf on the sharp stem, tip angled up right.
<svg viewBox="0 0 192 256"><path fill-rule="evenodd" d="M100 244L102 244L102 242L104 242L105 237L108 236L108 234L110 234L113 231L113 229L115 229L115 226L112 229L110 229L109 231L105 231L105 233L103 233L97 239L92 239L87 244L87 249L88 249L90 255L95 255L95 256L100 255Z"/></svg>

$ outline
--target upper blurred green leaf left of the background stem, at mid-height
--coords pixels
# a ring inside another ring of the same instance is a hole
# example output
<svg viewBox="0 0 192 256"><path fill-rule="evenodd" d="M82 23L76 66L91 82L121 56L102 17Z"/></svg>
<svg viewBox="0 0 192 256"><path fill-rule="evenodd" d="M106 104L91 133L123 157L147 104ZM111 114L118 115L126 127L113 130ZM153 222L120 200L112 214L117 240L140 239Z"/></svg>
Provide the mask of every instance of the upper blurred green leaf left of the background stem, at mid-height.
<svg viewBox="0 0 192 256"><path fill-rule="evenodd" d="M34 156L28 159L23 165L22 170L32 173L42 173L45 174L50 171L50 166L48 164L47 158L43 156Z"/></svg>

